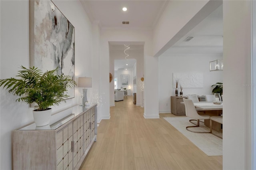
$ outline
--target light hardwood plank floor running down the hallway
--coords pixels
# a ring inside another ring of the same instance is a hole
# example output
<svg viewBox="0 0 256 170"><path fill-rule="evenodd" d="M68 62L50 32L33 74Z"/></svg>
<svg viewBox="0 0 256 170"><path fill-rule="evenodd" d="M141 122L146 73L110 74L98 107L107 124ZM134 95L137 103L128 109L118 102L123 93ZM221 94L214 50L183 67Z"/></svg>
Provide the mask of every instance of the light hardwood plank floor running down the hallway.
<svg viewBox="0 0 256 170"><path fill-rule="evenodd" d="M190 140L160 119L144 119L144 108L132 96L110 107L80 170L221 170L222 156L207 156Z"/></svg>

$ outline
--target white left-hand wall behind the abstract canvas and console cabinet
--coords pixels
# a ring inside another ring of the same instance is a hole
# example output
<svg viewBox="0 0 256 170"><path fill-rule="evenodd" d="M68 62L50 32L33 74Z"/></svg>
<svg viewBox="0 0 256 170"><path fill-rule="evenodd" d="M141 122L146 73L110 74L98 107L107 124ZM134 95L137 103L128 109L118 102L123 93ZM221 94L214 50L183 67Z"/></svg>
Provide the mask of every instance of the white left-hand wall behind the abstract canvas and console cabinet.
<svg viewBox="0 0 256 170"><path fill-rule="evenodd" d="M75 27L75 80L92 77L92 26L80 1L53 1ZM20 65L29 67L29 1L0 1L0 78L17 75ZM88 89L88 99L92 98ZM0 155L1 170L12 169L11 132L33 121L32 110L24 102L15 102L16 96L0 88ZM66 100L53 113L80 103L80 89L75 89L75 98ZM68 114L68 113L67 113ZM64 117L56 114L54 120Z"/></svg>

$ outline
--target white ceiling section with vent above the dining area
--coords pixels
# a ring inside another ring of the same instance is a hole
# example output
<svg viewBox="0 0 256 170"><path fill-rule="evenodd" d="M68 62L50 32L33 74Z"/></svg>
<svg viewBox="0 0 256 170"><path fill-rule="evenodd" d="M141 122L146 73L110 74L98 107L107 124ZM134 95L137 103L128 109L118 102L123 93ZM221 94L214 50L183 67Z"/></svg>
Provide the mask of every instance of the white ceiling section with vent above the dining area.
<svg viewBox="0 0 256 170"><path fill-rule="evenodd" d="M218 7L172 47L166 53L176 54L218 54L223 53L223 6ZM192 36L189 42L184 42Z"/></svg>

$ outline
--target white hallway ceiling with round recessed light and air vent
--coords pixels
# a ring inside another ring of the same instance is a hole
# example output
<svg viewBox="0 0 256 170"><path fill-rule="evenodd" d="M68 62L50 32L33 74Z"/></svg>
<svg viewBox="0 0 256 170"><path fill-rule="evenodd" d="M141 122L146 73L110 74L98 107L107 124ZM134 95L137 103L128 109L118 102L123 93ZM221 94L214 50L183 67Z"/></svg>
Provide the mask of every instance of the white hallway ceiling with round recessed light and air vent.
<svg viewBox="0 0 256 170"><path fill-rule="evenodd" d="M102 28L152 29L168 0L81 0L89 18ZM127 11L122 11L126 7ZM130 24L122 24L129 21Z"/></svg>

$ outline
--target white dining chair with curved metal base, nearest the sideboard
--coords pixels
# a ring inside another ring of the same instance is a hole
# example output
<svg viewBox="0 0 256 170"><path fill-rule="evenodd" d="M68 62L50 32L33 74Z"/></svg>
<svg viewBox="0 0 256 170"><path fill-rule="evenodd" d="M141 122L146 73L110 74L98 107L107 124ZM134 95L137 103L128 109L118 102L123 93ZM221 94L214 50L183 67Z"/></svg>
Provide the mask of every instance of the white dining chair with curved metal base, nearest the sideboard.
<svg viewBox="0 0 256 170"><path fill-rule="evenodd" d="M189 118L192 118L191 120L189 120L190 123L196 125L196 126L188 126L188 127L186 127L186 130L188 130L190 132L194 132L194 133L210 133L210 132L198 132L198 131L193 131L193 130L189 129L189 128L192 128L192 127L199 127L199 125L200 125L199 120L210 119L210 116L208 116L208 115L198 115L192 100L183 98L183 101L184 101L184 104L185 104L186 116L189 117ZM197 124L193 123L192 121L197 121Z"/></svg>

